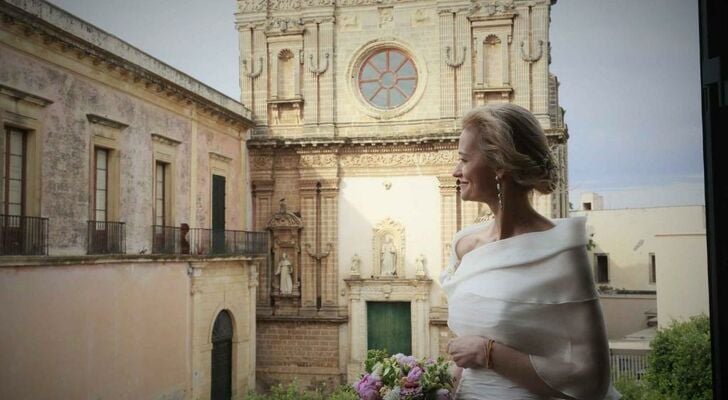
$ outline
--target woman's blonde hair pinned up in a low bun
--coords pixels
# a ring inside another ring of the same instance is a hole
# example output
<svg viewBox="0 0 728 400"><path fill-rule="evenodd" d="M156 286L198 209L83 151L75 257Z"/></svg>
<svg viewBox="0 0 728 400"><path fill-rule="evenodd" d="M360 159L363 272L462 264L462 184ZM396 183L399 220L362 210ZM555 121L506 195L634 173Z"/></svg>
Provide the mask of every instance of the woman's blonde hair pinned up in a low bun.
<svg viewBox="0 0 728 400"><path fill-rule="evenodd" d="M493 169L510 172L513 181L527 189L544 194L556 189L556 163L546 134L530 111L510 103L476 107L463 117L463 129L478 136Z"/></svg>

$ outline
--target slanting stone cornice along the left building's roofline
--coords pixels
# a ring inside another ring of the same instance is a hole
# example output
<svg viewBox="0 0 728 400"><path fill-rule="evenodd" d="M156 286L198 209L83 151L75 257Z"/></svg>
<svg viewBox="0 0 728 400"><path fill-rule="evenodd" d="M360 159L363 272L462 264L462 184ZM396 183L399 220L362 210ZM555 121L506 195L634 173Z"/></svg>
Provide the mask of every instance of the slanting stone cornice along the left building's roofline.
<svg viewBox="0 0 728 400"><path fill-rule="evenodd" d="M220 120L244 127L253 126L252 111L217 90L147 55L130 44L41 0L0 2L0 23L28 38L37 37L47 47L71 52L79 61L87 60L109 73L117 71L124 79L143 82L179 102L196 104L198 110Z"/></svg>

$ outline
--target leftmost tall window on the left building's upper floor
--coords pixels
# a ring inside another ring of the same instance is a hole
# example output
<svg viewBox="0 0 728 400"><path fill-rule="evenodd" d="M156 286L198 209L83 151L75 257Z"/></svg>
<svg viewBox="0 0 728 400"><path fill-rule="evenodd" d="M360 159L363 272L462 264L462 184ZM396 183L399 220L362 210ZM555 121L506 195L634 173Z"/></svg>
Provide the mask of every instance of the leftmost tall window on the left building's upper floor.
<svg viewBox="0 0 728 400"><path fill-rule="evenodd" d="M2 143L2 196L0 201L5 215L25 215L25 132L6 128Z"/></svg>

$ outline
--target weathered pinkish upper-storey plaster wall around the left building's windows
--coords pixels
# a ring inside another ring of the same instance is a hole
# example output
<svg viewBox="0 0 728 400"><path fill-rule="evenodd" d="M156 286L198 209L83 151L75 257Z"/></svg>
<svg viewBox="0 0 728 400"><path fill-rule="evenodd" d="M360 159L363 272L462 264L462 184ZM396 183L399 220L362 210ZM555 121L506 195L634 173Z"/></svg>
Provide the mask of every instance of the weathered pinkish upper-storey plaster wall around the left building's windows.
<svg viewBox="0 0 728 400"><path fill-rule="evenodd" d="M91 219L91 147L96 129L87 114L128 125L118 132L120 159L119 221L126 223L127 253L151 250L153 223L153 146L151 134L181 142L175 147L174 210L169 225L188 223L209 228L211 183L209 151L230 158L227 180L227 229L244 228L243 163L239 132L193 106L164 96L150 95L143 85L132 85L103 67L94 69L66 54L41 51L31 44L0 44L0 81L15 89L53 101L43 112L42 208L50 218L50 254L86 252L86 221ZM27 54L33 51L36 55ZM156 98L155 98L156 97ZM194 138L197 138L195 140ZM198 146L193 151L193 147ZM196 165L190 159L196 154ZM193 168L196 168L193 170ZM191 178L197 176L197 195L191 205ZM194 212L193 212L194 211ZM193 218L194 217L194 218Z"/></svg>

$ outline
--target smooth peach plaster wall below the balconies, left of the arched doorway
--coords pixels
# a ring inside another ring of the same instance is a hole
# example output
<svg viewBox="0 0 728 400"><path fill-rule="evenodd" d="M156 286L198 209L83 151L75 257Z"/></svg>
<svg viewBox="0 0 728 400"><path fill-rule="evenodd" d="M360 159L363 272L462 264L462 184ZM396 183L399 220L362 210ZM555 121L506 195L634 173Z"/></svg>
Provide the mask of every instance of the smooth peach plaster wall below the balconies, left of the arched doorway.
<svg viewBox="0 0 728 400"><path fill-rule="evenodd" d="M182 399L187 263L0 268L0 398Z"/></svg>

